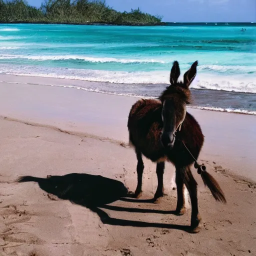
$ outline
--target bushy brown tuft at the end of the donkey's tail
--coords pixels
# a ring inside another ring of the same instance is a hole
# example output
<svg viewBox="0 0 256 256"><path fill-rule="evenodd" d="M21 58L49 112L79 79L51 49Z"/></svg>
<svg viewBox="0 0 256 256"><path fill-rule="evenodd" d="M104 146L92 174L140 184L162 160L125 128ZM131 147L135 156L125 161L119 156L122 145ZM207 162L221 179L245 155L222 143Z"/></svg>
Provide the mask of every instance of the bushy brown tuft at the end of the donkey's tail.
<svg viewBox="0 0 256 256"><path fill-rule="evenodd" d="M226 203L226 199L224 196L224 193L222 191L222 189L220 188L217 180L215 178L213 178L207 171L202 170L200 172L201 174L201 178L202 181L204 183L205 186L207 186L210 191L211 194L213 195L213 197L215 198L216 201L220 201L222 203Z"/></svg>

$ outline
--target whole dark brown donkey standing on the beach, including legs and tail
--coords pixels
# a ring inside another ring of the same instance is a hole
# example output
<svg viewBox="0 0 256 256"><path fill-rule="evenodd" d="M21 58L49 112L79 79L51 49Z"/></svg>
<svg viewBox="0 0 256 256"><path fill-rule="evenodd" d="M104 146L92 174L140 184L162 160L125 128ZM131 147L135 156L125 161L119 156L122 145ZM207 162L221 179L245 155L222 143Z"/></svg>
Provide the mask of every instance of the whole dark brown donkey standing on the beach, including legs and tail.
<svg viewBox="0 0 256 256"><path fill-rule="evenodd" d="M190 165L194 162L191 154L197 159L204 140L199 124L191 114L186 112L186 104L190 102L188 86L196 75L196 66L197 61L184 73L183 82L177 82L180 70L178 62L174 61L170 71L170 86L162 92L158 100L140 99L133 104L127 124L129 140L134 145L137 156L137 188L134 195L138 197L141 193L144 169L142 154L151 161L157 162L158 186L153 200L163 196L164 162L170 161L176 169L176 213L182 215L185 212L185 184L191 200L190 227L193 232L199 231L201 218L197 205L197 183L190 170ZM224 194L217 181L206 171L201 172L201 177L213 197L225 202Z"/></svg>

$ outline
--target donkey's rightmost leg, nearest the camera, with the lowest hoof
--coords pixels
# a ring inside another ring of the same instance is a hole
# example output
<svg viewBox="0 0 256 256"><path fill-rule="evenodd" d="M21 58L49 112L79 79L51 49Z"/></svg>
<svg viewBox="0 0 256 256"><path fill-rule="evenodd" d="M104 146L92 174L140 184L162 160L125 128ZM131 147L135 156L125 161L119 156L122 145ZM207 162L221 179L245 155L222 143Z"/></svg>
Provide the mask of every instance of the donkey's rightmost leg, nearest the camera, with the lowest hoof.
<svg viewBox="0 0 256 256"><path fill-rule="evenodd" d="M191 173L189 166L183 167L180 169L183 181L186 185L186 188L189 192L190 201L191 201L191 231L198 232L200 230L201 217L198 212L198 203L197 203L197 183Z"/></svg>

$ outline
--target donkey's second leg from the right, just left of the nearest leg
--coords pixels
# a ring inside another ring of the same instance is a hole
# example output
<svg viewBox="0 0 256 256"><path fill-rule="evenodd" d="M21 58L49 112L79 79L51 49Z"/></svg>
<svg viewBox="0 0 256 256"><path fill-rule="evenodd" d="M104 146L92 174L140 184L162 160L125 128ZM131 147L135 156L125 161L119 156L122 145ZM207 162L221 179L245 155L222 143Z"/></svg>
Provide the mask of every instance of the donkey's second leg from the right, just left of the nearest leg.
<svg viewBox="0 0 256 256"><path fill-rule="evenodd" d="M183 215L185 213L184 181L182 178L182 172L178 166L176 166L175 182L177 186L176 214Z"/></svg>

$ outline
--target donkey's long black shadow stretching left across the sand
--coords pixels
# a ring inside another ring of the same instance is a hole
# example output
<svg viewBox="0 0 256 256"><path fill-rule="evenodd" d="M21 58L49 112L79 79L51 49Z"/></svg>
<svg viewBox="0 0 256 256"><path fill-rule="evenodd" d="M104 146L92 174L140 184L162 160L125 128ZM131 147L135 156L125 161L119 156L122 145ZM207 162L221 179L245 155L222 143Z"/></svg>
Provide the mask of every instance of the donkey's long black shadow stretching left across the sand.
<svg viewBox="0 0 256 256"><path fill-rule="evenodd" d="M108 205L109 203L119 199L127 202L149 201L123 198L130 197L128 189L121 181L115 179L86 173L69 173L63 176L48 175L47 178L21 176L17 180L17 182L28 181L37 182L41 189L47 193L56 195L60 199L69 200L72 203L76 203L89 208L98 214L100 220L104 224L138 227L160 227L189 231L189 226L185 225L134 221L110 217L105 211L102 210L102 208L127 212L175 214L175 211Z"/></svg>

